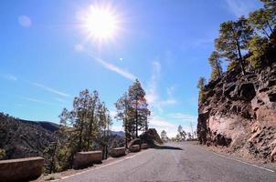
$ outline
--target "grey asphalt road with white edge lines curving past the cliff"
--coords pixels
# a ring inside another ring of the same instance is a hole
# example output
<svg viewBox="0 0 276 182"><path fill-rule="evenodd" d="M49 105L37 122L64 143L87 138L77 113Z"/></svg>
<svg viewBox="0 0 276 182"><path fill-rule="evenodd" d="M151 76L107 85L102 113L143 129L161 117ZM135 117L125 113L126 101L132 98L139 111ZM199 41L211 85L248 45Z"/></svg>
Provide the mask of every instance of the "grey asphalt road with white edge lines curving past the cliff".
<svg viewBox="0 0 276 182"><path fill-rule="evenodd" d="M219 156L191 143L151 148L92 168L62 182L204 181L276 182L276 172Z"/></svg>

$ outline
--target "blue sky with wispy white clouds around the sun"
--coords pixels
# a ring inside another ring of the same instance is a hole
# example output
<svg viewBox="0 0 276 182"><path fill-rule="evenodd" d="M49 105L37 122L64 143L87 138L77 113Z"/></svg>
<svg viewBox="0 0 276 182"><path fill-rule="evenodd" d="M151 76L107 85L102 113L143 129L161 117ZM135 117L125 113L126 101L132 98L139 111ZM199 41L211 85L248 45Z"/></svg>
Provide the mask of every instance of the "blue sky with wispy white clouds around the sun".
<svg viewBox="0 0 276 182"><path fill-rule="evenodd" d="M90 5L110 5L120 19L110 40L88 38L81 25ZM219 24L260 7L259 0L16 1L0 5L0 111L58 122L63 107L88 88L113 103L139 78L153 115L150 126L175 136L196 129L199 76ZM121 122L113 121L121 130Z"/></svg>

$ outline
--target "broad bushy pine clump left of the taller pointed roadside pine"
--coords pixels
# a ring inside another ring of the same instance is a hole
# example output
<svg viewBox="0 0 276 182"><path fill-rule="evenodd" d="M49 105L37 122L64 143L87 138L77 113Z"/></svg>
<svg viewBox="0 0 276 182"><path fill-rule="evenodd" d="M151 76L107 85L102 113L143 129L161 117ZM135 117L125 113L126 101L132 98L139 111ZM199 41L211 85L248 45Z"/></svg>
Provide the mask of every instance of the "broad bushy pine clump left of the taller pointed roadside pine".
<svg viewBox="0 0 276 182"><path fill-rule="evenodd" d="M69 168L77 152L91 149L103 150L103 158L108 155L109 129L111 116L101 102L99 94L90 94L85 89L76 96L72 111L63 109L60 118L60 147L58 147L58 166Z"/></svg>

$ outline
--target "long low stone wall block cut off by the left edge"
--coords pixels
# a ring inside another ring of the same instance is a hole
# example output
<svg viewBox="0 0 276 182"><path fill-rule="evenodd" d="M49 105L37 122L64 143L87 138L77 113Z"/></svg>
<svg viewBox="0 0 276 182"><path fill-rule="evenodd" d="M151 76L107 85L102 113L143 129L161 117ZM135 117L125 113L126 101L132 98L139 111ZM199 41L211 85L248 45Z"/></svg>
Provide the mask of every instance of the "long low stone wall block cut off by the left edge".
<svg viewBox="0 0 276 182"><path fill-rule="evenodd" d="M29 181L40 177L44 158L28 157L0 160L0 181Z"/></svg>

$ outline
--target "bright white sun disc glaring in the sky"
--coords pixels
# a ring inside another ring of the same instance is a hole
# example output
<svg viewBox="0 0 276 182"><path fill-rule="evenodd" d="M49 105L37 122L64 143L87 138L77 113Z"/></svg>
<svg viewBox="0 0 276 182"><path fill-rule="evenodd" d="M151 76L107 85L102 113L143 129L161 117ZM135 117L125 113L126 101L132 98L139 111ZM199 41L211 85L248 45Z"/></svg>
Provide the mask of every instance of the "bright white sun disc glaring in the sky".
<svg viewBox="0 0 276 182"><path fill-rule="evenodd" d="M107 7L91 5L83 17L85 29L93 38L103 41L113 38L118 31L118 16Z"/></svg>

